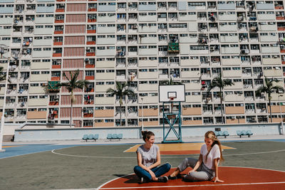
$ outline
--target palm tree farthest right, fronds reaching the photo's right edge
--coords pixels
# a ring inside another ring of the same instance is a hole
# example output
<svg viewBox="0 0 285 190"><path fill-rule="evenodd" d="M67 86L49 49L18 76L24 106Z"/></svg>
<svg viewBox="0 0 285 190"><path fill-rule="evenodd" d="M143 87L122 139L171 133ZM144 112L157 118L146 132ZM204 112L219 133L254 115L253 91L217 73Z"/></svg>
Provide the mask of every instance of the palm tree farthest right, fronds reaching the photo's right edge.
<svg viewBox="0 0 285 190"><path fill-rule="evenodd" d="M278 85L274 85L274 82L275 83L278 83L279 80L276 79L276 78L271 78L271 79L268 79L268 78L264 78L264 85L262 85L261 87L259 87L256 91L256 95L257 96L261 96L261 93L266 93L268 95L268 100L269 100L269 110L270 110L270 122L272 122L272 115L271 115L271 93L273 91L281 91L281 90L284 90L283 87L281 86L278 86Z"/></svg>

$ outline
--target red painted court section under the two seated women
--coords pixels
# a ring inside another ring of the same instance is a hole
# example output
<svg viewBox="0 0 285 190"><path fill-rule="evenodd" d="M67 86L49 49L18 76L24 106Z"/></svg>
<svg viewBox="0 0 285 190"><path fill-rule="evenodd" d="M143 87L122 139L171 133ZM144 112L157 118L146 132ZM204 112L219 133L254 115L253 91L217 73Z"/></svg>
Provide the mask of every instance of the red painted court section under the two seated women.
<svg viewBox="0 0 285 190"><path fill-rule="evenodd" d="M168 176L173 170L171 169L165 175ZM185 182L182 179L175 179L167 181L167 183L138 184L138 177L135 174L130 174L108 181L98 189L285 189L285 171L219 167L219 179L224 180L224 183L214 183L213 181Z"/></svg>

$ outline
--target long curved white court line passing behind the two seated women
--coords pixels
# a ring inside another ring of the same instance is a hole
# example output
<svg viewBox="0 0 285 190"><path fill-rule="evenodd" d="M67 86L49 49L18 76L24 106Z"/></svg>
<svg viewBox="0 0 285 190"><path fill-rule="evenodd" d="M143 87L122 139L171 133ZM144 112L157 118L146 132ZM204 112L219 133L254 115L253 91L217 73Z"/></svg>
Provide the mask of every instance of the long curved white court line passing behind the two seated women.
<svg viewBox="0 0 285 190"><path fill-rule="evenodd" d="M65 149L65 148L63 148ZM83 157L83 158L105 158L105 159L135 159L136 157L93 157L93 156L84 156L84 155L73 155L73 154L62 154L55 152L57 149L51 150L53 154L58 154L61 156L66 156L66 157ZM231 156L242 156L242 155L251 155L251 154L268 154L268 153L274 153L274 152L284 152L285 149L279 149L279 150L274 150L274 151L268 151L268 152L252 152L252 153L242 153L242 154L224 154L223 157L231 157ZM195 155L195 154L189 154L189 155ZM185 158L183 157L161 157L162 159L172 159L172 158Z"/></svg>

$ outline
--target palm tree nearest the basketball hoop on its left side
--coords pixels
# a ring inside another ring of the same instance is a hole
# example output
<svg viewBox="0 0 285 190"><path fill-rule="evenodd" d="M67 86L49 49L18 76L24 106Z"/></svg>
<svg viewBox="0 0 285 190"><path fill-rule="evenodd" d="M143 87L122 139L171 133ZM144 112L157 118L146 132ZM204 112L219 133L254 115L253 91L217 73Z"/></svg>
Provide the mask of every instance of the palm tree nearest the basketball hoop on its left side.
<svg viewBox="0 0 285 190"><path fill-rule="evenodd" d="M110 93L111 96L116 95L116 97L120 97L120 126L122 126L122 105L123 98L126 95L135 95L134 91L128 88L128 84L125 82L115 82L115 89L108 88L106 93Z"/></svg>

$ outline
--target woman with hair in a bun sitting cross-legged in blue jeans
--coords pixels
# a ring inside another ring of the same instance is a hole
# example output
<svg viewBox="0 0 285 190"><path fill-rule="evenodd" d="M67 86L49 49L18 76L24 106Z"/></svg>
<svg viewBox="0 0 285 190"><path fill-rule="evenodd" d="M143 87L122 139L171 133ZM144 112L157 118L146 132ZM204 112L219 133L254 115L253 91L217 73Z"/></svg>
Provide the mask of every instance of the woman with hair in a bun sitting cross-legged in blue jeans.
<svg viewBox="0 0 285 190"><path fill-rule="evenodd" d="M160 165L160 147L155 143L155 134L150 131L142 131L142 139L145 144L138 147L137 159L138 166L134 168L135 174L139 177L139 183L157 181L167 182L167 176L162 176L170 171L169 163Z"/></svg>

